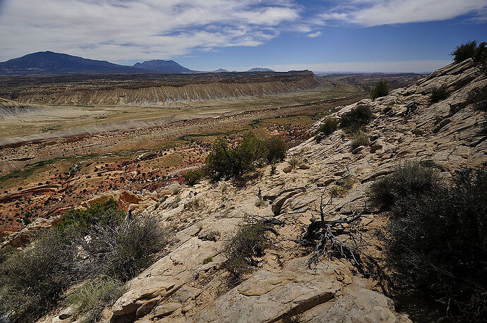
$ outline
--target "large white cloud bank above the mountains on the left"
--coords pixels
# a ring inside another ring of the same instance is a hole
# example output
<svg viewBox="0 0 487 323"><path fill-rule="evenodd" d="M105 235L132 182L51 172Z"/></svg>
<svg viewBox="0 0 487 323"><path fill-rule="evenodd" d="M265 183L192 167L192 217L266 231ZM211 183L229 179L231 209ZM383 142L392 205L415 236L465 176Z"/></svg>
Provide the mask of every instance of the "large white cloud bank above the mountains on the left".
<svg viewBox="0 0 487 323"><path fill-rule="evenodd" d="M258 46L299 18L299 8L283 0L6 0L0 6L0 61L47 49L124 61Z"/></svg>

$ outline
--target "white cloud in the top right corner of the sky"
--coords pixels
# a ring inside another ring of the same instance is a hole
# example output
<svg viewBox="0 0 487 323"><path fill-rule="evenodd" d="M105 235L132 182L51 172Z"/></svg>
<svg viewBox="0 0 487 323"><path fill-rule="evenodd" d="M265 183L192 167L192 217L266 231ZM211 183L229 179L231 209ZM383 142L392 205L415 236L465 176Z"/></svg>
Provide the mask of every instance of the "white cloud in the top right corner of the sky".
<svg viewBox="0 0 487 323"><path fill-rule="evenodd" d="M338 5L319 17L366 27L447 20L468 13L482 16L487 0L355 0Z"/></svg>

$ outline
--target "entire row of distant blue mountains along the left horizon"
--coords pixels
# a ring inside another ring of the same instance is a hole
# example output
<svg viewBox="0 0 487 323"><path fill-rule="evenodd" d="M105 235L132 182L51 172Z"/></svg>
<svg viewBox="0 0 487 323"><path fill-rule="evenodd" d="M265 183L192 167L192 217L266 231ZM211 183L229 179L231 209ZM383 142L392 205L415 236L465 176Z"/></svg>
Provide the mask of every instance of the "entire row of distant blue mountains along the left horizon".
<svg viewBox="0 0 487 323"><path fill-rule="evenodd" d="M219 68L213 73L228 72ZM234 72L234 71L232 71ZM247 72L273 72L269 68L251 68ZM27 54L18 59L10 59L0 63L0 74L88 74L88 73L204 73L193 71L179 65L175 61L155 59L124 66L109 61L84 59L79 56L54 53L53 51L38 51Z"/></svg>

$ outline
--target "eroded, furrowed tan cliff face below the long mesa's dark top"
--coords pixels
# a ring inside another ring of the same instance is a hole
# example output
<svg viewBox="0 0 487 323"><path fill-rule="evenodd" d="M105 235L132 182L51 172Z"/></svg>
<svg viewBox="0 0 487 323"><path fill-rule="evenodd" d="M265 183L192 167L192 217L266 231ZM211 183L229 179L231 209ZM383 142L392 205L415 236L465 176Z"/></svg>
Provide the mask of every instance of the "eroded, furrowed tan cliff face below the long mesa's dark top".
<svg viewBox="0 0 487 323"><path fill-rule="evenodd" d="M285 73L284 73L285 74ZM303 73L292 79L270 78L270 80L248 80L239 82L195 83L182 86L160 85L150 87L103 87L79 90L49 90L21 94L16 101L30 104L52 105L95 105L95 106L164 106L169 102L228 99L259 95L278 95L298 90L309 90L318 86L313 73Z"/></svg>

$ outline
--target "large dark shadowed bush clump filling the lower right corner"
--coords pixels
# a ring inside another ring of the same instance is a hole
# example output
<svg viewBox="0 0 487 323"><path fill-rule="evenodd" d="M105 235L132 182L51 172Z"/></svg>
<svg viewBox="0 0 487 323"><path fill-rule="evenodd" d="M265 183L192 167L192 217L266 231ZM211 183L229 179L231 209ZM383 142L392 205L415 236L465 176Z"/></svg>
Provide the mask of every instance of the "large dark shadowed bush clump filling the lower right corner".
<svg viewBox="0 0 487 323"><path fill-rule="evenodd" d="M401 289L431 295L448 315L475 322L487 315L487 166L444 183L414 165L372 187L385 202L386 188L394 195L380 232L387 264Z"/></svg>

